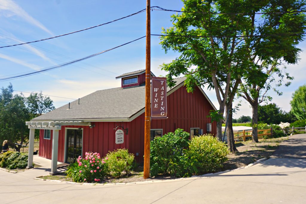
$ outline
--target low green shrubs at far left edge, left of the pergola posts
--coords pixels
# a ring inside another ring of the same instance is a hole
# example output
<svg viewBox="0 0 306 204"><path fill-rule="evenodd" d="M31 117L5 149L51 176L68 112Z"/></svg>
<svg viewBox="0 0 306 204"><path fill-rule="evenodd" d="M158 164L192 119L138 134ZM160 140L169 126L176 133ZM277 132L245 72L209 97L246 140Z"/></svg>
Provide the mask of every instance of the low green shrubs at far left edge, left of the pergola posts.
<svg viewBox="0 0 306 204"><path fill-rule="evenodd" d="M9 169L24 169L28 165L28 155L7 151L0 156L0 166ZM34 163L33 163L34 166Z"/></svg>

